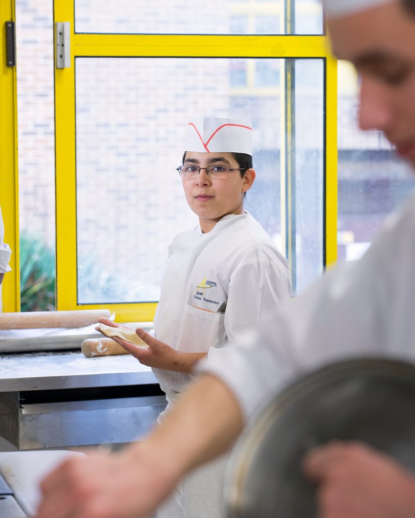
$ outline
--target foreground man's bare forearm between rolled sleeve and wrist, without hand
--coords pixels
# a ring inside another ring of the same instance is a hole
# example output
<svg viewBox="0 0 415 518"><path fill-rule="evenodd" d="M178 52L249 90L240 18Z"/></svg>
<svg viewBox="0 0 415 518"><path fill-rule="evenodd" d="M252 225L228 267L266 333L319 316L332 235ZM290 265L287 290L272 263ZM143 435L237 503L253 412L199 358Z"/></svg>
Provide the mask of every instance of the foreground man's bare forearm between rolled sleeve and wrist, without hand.
<svg viewBox="0 0 415 518"><path fill-rule="evenodd" d="M221 380L206 375L183 394L165 422L154 429L144 448L175 468L179 479L195 466L225 452L243 426L242 413L233 393ZM133 452L132 452L133 453ZM141 453L140 453L141 454Z"/></svg>

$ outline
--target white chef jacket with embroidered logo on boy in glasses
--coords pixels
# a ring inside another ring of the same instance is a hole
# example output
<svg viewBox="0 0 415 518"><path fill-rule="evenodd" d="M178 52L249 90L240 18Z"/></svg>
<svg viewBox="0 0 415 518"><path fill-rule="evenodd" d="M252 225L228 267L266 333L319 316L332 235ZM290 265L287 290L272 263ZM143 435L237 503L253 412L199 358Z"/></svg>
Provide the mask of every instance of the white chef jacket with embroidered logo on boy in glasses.
<svg viewBox="0 0 415 518"><path fill-rule="evenodd" d="M198 225L171 242L155 336L181 352L208 352L241 341L287 303L291 276L285 257L247 212L223 217L203 234ZM219 313L223 303L225 313ZM173 402L192 376L153 369Z"/></svg>

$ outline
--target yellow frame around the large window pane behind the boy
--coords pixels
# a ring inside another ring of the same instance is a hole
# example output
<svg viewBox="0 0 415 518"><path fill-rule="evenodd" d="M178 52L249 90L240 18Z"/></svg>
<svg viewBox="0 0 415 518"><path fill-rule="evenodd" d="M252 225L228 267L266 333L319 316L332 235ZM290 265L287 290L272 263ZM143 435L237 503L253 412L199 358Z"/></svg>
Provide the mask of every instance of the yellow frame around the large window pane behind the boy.
<svg viewBox="0 0 415 518"><path fill-rule="evenodd" d="M55 67L56 305L109 308L120 322L153 320L156 303L78 305L75 176L75 57L281 57L325 61L325 265L337 257L337 65L326 36L76 34L73 0L55 0L54 22L70 23L70 67ZM285 202L281 206L284 226Z"/></svg>

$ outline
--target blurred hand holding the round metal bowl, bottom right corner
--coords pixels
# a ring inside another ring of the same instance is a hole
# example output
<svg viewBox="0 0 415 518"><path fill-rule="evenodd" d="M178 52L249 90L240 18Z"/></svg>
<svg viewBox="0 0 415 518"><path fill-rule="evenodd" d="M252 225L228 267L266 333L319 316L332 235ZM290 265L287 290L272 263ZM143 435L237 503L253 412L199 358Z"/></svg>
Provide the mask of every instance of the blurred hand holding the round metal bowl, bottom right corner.
<svg viewBox="0 0 415 518"><path fill-rule="evenodd" d="M305 457L318 484L319 518L413 518L415 478L394 459L356 442L331 442Z"/></svg>

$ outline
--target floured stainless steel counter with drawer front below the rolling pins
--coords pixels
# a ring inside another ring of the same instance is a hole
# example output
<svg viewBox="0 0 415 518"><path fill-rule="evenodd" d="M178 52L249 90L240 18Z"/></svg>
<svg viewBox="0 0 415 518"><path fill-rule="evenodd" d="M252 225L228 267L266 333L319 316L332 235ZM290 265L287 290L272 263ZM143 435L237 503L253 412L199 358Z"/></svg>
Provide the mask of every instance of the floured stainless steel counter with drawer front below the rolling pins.
<svg viewBox="0 0 415 518"><path fill-rule="evenodd" d="M19 449L130 442L164 407L151 369L130 355L0 355L0 436Z"/></svg>

